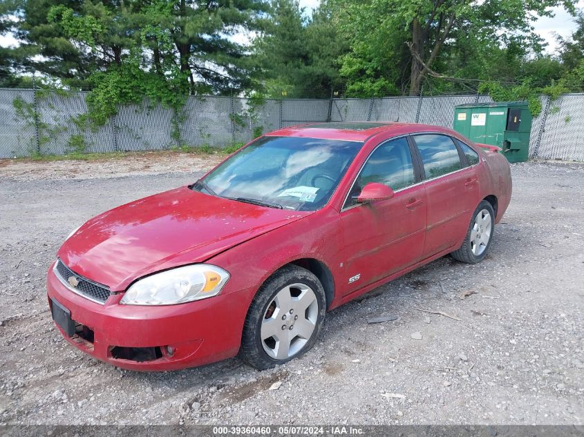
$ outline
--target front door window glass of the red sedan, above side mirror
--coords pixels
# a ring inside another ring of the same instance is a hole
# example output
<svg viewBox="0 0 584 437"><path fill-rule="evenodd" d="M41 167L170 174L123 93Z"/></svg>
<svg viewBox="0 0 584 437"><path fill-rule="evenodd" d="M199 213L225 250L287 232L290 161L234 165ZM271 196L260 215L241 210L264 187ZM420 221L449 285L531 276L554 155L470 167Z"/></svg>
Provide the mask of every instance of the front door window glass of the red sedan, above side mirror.
<svg viewBox="0 0 584 437"><path fill-rule="evenodd" d="M412 155L407 139L393 139L371 153L355 179L344 207L355 204L353 197L359 195L361 189L370 182L387 185L393 191L415 183Z"/></svg>

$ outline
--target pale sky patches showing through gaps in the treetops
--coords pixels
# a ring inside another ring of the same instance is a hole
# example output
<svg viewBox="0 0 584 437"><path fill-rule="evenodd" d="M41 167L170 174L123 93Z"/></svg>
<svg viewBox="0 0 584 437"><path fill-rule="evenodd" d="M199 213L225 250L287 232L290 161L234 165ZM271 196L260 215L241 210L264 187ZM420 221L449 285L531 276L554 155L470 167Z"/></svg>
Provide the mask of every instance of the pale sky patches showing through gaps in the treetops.
<svg viewBox="0 0 584 437"><path fill-rule="evenodd" d="M310 15L314 8L319 6L320 0L299 0L300 6L306 8L306 13ZM578 2L578 8L584 8L584 0ZM558 43L554 33L561 37L567 38L576 28L574 19L561 7L554 8L554 18L540 18L534 23L534 27L538 35L545 39L548 43L546 51L550 54L556 52ZM237 38L238 40L248 39L246 37ZM243 41L242 41L243 42ZM0 35L0 46L12 46L18 41L12 35Z"/></svg>

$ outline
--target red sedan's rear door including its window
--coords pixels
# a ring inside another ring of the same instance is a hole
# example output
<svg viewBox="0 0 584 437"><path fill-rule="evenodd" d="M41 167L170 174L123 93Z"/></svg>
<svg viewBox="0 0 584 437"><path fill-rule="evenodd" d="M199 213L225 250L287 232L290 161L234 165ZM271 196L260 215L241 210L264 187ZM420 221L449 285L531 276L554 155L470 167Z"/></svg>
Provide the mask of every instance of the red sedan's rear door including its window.
<svg viewBox="0 0 584 437"><path fill-rule="evenodd" d="M428 198L423 258L460 244L480 191L474 166L470 166L455 139L442 134L411 137L422 162Z"/></svg>

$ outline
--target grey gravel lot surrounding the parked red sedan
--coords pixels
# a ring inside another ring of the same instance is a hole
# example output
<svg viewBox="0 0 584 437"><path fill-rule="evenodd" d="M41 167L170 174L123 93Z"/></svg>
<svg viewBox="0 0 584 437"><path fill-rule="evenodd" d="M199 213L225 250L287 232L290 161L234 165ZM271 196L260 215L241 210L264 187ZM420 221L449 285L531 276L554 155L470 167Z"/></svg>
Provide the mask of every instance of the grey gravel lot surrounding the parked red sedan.
<svg viewBox="0 0 584 437"><path fill-rule="evenodd" d="M70 347L44 290L59 244L101 211L193 181L199 164L132 177L88 164L93 179L0 168L0 423L584 423L582 164L514 165L484 262L442 258L332 311L314 349L279 368L135 373ZM368 324L380 315L398 318Z"/></svg>

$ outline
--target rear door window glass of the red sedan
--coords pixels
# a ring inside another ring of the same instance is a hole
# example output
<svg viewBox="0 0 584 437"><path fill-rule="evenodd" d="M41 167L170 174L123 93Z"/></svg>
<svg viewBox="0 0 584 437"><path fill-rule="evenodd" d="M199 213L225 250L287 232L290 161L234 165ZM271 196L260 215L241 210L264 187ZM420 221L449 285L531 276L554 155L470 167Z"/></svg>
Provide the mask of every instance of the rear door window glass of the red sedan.
<svg viewBox="0 0 584 437"><path fill-rule="evenodd" d="M440 177L460 170L460 155L451 137L446 135L415 135L413 137L424 164L425 179Z"/></svg>

